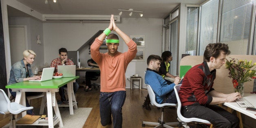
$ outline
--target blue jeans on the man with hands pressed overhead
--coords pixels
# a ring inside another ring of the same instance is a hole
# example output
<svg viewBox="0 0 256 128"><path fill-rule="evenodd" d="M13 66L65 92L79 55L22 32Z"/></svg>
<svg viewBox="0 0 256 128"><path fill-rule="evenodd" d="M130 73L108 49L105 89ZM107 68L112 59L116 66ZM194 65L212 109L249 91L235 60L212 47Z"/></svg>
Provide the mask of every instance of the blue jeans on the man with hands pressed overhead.
<svg viewBox="0 0 256 128"><path fill-rule="evenodd" d="M106 126L111 122L111 114L113 117L114 128L122 128L122 106L126 98L126 91L116 91L113 93L100 92L99 95L99 112L102 126Z"/></svg>

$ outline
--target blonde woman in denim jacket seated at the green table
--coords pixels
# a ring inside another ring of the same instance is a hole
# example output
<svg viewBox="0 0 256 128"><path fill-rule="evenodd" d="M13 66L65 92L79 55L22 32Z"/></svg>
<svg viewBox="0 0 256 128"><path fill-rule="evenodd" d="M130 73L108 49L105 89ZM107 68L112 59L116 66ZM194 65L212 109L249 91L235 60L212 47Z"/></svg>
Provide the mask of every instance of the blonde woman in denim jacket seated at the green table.
<svg viewBox="0 0 256 128"><path fill-rule="evenodd" d="M41 76L34 75L31 71L31 64L33 64L35 57L36 54L32 50L25 50L23 52L23 59L13 64L13 66L11 66L8 85L34 79L41 79ZM14 99L16 97L16 92L13 92L11 89L9 90L11 93L10 99ZM42 92L26 92L26 96L40 94L42 94ZM27 99L26 106L30 106ZM33 115L33 110L27 110L27 114Z"/></svg>

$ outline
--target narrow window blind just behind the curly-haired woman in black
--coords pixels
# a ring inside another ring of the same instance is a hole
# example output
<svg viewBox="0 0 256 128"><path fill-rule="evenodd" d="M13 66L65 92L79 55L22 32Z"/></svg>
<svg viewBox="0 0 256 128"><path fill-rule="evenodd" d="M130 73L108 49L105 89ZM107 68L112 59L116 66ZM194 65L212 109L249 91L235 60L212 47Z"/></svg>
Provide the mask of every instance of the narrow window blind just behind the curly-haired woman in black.
<svg viewBox="0 0 256 128"><path fill-rule="evenodd" d="M170 62L169 73L177 75L177 52L178 49L178 20L170 24L170 51L172 52L172 61Z"/></svg>

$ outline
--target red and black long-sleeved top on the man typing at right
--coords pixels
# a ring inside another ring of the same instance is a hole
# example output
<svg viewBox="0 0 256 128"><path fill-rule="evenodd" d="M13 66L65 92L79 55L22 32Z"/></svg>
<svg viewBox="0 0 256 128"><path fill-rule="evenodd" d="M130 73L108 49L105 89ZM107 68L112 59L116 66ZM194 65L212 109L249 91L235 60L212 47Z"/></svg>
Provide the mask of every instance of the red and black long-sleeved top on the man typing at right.
<svg viewBox="0 0 256 128"><path fill-rule="evenodd" d="M212 97L207 95L212 88L216 78L216 69L210 72L206 62L192 67L183 78L179 97L182 106L209 105Z"/></svg>

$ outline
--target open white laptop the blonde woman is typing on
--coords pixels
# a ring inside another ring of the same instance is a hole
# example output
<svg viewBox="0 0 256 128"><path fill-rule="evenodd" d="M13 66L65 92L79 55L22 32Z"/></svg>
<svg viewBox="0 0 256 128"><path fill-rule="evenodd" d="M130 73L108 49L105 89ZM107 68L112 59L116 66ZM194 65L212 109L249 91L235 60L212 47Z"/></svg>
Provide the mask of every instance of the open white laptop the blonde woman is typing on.
<svg viewBox="0 0 256 128"><path fill-rule="evenodd" d="M54 67L44 68L40 80L29 80L29 82L43 82L46 80L51 80L53 79L53 71L54 71Z"/></svg>

